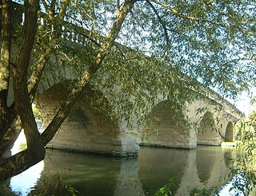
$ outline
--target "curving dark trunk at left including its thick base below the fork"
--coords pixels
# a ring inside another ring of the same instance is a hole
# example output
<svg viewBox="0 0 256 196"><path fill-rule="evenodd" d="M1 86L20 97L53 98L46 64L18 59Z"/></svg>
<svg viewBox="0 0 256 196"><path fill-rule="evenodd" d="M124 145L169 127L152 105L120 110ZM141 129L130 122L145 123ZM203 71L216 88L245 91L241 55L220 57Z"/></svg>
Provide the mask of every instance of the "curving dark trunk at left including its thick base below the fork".
<svg viewBox="0 0 256 196"><path fill-rule="evenodd" d="M21 173L44 159L45 156L27 88L27 71L38 27L39 1L26 0L24 6L25 22L22 43L14 64L14 100L26 135L27 149L8 159L0 160L0 180Z"/></svg>

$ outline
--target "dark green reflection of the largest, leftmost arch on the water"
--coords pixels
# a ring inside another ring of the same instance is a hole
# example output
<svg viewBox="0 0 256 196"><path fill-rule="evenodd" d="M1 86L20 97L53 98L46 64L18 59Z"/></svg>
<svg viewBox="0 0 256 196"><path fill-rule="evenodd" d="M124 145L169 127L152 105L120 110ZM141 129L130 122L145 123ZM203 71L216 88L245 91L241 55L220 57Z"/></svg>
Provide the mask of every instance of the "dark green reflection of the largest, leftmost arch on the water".
<svg viewBox="0 0 256 196"><path fill-rule="evenodd" d="M117 159L47 151L45 167L31 195L51 195L58 181L79 190L82 195L113 195L120 163ZM62 185L61 185L62 186Z"/></svg>

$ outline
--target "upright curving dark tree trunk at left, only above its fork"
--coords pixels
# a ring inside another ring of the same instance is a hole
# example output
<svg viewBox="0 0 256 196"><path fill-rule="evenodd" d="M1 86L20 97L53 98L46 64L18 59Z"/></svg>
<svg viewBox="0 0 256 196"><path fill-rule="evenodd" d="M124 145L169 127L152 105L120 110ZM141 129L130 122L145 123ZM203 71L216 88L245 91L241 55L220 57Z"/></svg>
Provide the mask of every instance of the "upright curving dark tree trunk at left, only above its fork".
<svg viewBox="0 0 256 196"><path fill-rule="evenodd" d="M41 157L44 156L44 148L42 147L40 134L34 120L27 88L27 71L34 45L34 37L38 27L39 2L38 0L27 0L24 6L25 22L23 38L14 67L14 100L26 135L28 150L35 157Z"/></svg>

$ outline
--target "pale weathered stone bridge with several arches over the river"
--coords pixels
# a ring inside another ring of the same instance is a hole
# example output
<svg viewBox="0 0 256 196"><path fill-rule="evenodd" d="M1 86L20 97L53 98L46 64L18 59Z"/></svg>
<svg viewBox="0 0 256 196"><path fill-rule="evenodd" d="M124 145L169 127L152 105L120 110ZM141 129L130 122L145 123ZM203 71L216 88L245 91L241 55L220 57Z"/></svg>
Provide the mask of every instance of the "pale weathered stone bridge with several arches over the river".
<svg viewBox="0 0 256 196"><path fill-rule="evenodd" d="M14 14L14 19L22 23L22 12ZM79 42L78 38L78 35L74 34L66 37L68 41L76 43ZM12 49L15 53L15 45ZM44 73L34 100L34 104L42 113L44 127L50 123L66 99L70 92L69 84L77 79L74 71L63 65L62 57L50 57L48 64L55 69ZM146 124L138 126L136 116L130 116L130 123L123 118L113 121L102 112L95 110L91 106L94 96L102 97L109 105L113 103L107 98L106 89L99 85L95 90L92 86L82 92L69 116L47 147L66 151L130 156L138 154L140 145L196 148L198 144L220 145L222 141L233 141L234 123L242 113L217 93L207 88L206 91L209 92L207 96L186 104L184 119L197 125L191 126L190 130L186 131L174 120L174 109L166 104L168 100L165 97L161 98L160 94L156 95L159 97L158 102L150 105L148 118L151 125L158 131L145 136L150 126ZM160 121L156 122L156 119Z"/></svg>

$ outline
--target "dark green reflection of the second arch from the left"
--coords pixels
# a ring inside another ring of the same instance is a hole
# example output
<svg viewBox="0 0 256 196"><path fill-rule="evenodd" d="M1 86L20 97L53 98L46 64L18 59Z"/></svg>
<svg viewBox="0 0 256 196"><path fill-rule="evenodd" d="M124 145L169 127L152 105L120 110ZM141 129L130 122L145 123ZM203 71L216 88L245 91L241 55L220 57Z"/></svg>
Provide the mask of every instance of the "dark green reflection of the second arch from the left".
<svg viewBox="0 0 256 196"><path fill-rule="evenodd" d="M187 163L189 150L142 147L138 161L138 178L147 195L154 193L174 178L173 193L178 190Z"/></svg>

